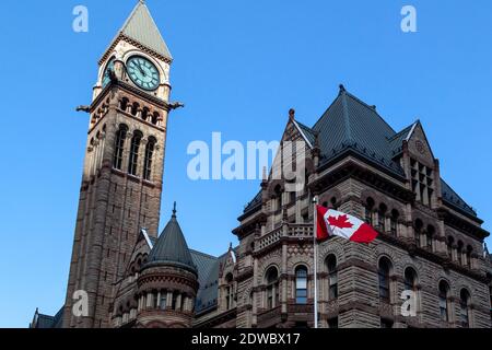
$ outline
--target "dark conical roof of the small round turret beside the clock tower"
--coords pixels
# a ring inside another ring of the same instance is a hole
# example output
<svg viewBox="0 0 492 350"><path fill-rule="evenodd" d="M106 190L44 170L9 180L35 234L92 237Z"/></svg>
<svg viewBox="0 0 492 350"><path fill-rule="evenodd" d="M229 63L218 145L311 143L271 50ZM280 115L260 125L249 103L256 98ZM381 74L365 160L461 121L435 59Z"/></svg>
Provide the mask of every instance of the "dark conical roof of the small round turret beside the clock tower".
<svg viewBox="0 0 492 350"><path fill-rule="evenodd" d="M169 265L197 273L197 267L176 219L176 203L169 222L149 254L147 266L153 265Z"/></svg>

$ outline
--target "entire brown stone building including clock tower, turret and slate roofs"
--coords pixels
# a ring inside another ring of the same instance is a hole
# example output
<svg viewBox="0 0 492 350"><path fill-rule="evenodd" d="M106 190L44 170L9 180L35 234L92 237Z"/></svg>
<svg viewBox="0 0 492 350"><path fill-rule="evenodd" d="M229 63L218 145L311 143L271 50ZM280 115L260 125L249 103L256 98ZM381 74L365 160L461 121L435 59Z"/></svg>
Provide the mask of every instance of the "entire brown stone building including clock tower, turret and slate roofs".
<svg viewBox="0 0 492 350"><path fill-rule="evenodd" d="M285 161L280 149L238 218L237 247L220 257L189 249L176 209L157 236L167 117L179 106L171 63L140 1L81 107L91 124L67 300L57 317L36 312L33 327L314 327L315 199L379 233L370 245L319 244L320 327L491 327L483 222L442 179L419 120L396 131L343 86L313 127L291 110L281 144L296 141L305 158ZM305 168L302 188L272 176L284 165ZM72 313L78 290L89 294L86 317ZM403 291L415 298L410 316Z"/></svg>

